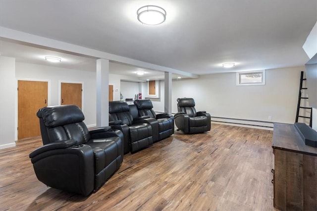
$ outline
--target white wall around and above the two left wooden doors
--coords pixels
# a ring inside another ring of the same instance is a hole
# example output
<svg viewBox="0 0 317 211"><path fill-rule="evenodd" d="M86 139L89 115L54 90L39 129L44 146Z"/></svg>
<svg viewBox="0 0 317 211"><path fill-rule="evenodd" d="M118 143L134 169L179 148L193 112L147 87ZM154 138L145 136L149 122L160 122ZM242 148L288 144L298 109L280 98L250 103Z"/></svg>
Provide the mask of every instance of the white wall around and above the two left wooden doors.
<svg viewBox="0 0 317 211"><path fill-rule="evenodd" d="M48 105L60 104L60 81L83 83L84 122L88 127L96 125L96 72L16 62L15 77L18 80L50 81Z"/></svg>

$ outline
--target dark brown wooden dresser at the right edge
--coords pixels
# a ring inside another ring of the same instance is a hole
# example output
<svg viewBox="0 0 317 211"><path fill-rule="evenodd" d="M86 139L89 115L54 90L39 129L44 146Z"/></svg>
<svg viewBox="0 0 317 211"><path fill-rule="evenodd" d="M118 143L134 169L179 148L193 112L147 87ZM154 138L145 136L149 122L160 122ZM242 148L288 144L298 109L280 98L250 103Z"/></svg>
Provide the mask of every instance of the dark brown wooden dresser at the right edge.
<svg viewBox="0 0 317 211"><path fill-rule="evenodd" d="M274 123L274 207L317 211L317 148L305 145L294 125Z"/></svg>

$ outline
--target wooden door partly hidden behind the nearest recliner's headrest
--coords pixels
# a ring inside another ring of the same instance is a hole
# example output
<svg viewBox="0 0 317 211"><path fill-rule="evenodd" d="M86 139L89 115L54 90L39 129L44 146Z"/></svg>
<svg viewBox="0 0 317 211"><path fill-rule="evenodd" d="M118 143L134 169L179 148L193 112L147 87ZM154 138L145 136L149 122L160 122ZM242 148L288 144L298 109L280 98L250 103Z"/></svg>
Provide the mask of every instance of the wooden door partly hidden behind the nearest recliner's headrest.
<svg viewBox="0 0 317 211"><path fill-rule="evenodd" d="M60 104L82 108L82 84L61 83Z"/></svg>

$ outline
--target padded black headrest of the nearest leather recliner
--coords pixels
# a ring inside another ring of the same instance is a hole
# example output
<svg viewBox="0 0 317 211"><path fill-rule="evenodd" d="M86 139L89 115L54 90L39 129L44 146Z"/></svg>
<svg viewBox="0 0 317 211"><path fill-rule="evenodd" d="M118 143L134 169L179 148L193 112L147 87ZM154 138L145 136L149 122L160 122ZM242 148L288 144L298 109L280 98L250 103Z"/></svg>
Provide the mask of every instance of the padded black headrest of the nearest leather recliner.
<svg viewBox="0 0 317 211"><path fill-rule="evenodd" d="M47 106L41 108L36 115L43 119L46 127L57 127L85 120L83 112L76 105Z"/></svg>

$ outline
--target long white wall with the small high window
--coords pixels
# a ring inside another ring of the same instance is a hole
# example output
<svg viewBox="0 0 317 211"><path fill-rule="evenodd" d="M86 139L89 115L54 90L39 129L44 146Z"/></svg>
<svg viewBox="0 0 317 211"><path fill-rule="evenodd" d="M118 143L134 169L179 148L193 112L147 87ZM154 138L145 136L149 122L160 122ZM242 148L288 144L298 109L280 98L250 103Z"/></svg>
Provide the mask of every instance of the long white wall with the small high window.
<svg viewBox="0 0 317 211"><path fill-rule="evenodd" d="M192 97L197 111L207 111L214 117L256 121L295 122L300 72L305 67L265 71L265 85L237 86L236 73L210 74L199 79L172 82L172 112L177 112L179 97ZM164 83L161 81L161 89ZM154 100L154 110L164 108L164 91Z"/></svg>

